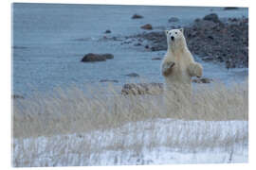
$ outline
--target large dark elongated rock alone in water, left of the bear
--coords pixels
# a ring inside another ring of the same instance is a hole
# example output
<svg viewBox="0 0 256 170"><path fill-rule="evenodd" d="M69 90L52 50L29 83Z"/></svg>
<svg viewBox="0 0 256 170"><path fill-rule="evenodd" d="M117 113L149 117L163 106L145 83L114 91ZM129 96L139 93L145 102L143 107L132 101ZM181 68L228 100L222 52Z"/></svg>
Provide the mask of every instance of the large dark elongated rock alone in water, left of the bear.
<svg viewBox="0 0 256 170"><path fill-rule="evenodd" d="M81 61L82 62L95 62L95 61L104 61L106 59L113 59L114 56L112 54L86 54Z"/></svg>

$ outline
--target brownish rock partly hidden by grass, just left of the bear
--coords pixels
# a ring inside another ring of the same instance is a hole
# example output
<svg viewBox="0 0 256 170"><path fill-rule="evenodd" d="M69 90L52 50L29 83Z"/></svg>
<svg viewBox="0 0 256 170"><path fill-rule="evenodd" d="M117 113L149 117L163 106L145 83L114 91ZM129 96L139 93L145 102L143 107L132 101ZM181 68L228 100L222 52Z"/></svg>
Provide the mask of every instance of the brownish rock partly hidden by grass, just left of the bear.
<svg viewBox="0 0 256 170"><path fill-rule="evenodd" d="M121 94L159 94L163 92L162 83L130 83L124 84Z"/></svg>

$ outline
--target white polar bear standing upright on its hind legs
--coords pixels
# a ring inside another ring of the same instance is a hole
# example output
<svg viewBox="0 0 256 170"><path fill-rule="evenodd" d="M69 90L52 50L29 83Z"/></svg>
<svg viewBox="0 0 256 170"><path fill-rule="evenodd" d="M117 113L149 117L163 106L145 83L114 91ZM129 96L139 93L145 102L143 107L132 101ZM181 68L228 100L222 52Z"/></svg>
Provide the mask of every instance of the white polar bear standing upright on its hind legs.
<svg viewBox="0 0 256 170"><path fill-rule="evenodd" d="M165 31L168 49L161 64L165 90L192 93L192 76L202 76L203 68L195 62L183 34L183 28Z"/></svg>

